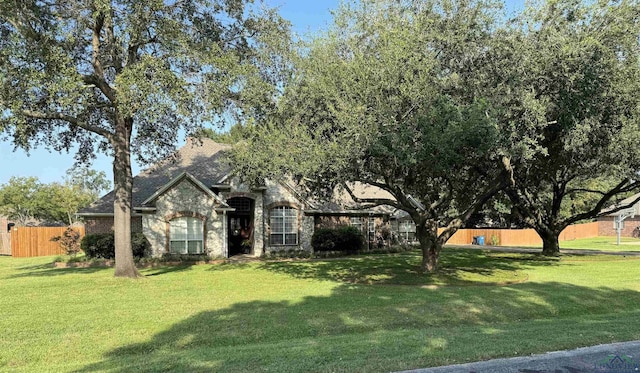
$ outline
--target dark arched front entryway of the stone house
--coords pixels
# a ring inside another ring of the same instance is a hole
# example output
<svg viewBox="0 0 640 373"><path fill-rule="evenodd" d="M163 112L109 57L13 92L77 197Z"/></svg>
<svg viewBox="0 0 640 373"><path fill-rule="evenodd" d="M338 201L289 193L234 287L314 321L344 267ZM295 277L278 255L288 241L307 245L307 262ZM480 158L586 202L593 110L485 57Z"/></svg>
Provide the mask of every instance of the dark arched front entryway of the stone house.
<svg viewBox="0 0 640 373"><path fill-rule="evenodd" d="M247 197L234 197L227 200L227 204L235 211L227 215L229 227L229 257L240 254L252 254L254 242L254 201Z"/></svg>

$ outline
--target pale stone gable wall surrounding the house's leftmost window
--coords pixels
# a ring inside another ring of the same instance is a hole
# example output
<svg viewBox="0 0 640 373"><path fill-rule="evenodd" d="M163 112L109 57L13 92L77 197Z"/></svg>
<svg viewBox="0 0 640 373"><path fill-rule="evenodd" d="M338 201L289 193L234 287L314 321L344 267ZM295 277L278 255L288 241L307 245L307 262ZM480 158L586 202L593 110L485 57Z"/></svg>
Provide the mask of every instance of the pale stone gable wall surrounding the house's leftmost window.
<svg viewBox="0 0 640 373"><path fill-rule="evenodd" d="M215 211L216 201L190 180L184 179L156 200L155 214L144 215L144 234L154 256L169 251L169 221L178 216L204 217L204 247L211 257L226 257L223 245L222 214Z"/></svg>

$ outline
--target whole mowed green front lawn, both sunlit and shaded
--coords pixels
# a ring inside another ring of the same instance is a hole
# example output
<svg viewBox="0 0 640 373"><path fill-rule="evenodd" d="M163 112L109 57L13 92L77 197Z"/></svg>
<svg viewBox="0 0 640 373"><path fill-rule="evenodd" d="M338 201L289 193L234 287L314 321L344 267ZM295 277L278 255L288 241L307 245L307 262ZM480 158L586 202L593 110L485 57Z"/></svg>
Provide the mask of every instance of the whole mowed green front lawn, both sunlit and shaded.
<svg viewBox="0 0 640 373"><path fill-rule="evenodd" d="M0 257L0 370L383 372L640 339L640 260L448 250L56 269Z"/></svg>

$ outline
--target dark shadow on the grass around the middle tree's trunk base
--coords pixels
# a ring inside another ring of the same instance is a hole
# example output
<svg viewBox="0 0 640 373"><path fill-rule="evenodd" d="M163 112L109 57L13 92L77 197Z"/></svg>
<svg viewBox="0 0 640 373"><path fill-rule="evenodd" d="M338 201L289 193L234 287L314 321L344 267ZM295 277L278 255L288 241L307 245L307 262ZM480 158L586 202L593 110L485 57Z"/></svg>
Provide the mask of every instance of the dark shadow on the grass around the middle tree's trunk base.
<svg viewBox="0 0 640 373"><path fill-rule="evenodd" d="M295 278L376 285L509 284L527 279L527 268L557 265L557 258L537 254L445 250L437 273L420 273L418 251L363 255L346 259L265 262L261 269Z"/></svg>

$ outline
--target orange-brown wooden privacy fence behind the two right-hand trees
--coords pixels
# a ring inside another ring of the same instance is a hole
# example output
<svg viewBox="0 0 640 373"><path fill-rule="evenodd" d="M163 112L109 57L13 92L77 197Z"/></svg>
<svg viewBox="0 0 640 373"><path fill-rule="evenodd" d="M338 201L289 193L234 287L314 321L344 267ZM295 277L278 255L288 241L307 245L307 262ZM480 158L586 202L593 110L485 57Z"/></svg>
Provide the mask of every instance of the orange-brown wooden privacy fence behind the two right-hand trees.
<svg viewBox="0 0 640 373"><path fill-rule="evenodd" d="M440 230L440 232L442 232ZM439 233L440 233L439 232ZM484 236L484 244L496 246L541 246L542 239L533 229L460 229L448 244L469 245L475 236ZM568 226L560 233L560 241L598 236L598 222Z"/></svg>

